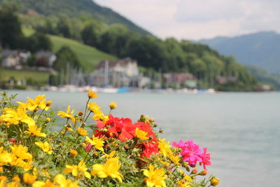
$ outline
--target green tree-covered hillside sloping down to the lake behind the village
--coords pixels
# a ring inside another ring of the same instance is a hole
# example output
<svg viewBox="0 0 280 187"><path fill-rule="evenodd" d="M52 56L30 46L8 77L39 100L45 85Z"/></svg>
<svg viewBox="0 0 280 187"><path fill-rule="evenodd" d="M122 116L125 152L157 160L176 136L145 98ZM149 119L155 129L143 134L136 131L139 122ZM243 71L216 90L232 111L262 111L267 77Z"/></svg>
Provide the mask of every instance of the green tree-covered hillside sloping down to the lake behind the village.
<svg viewBox="0 0 280 187"><path fill-rule="evenodd" d="M57 6L55 7L45 3L48 5L48 13L44 13L44 15L38 14L39 11L36 13L27 11L26 7L31 6L29 4L31 0L12 0L8 3L6 1L2 2L0 7L5 12L12 11L14 15L18 16L23 27L34 29L38 34L52 34L74 39L119 58L132 57L145 69L153 69L153 71L162 73L193 74L197 78L198 88L250 91L258 86L258 81L241 64L237 63L234 57L220 55L209 46L186 40L178 41L174 38L162 40L151 35L143 36L127 29L125 25L108 25L83 14L75 16L74 13L69 16L63 10L66 5L62 6L62 11L59 11L60 3L68 2L69 8L66 10L74 10L83 6L74 7L75 3L72 0L56 1ZM19 3L13 4L13 2ZM45 1L42 0L42 2ZM35 1L34 4L36 4ZM83 12L83 9L79 10ZM63 51L72 53L69 50L70 48L67 50L64 48ZM68 61L70 61L69 58ZM73 61L73 64L77 63ZM63 64L61 65L59 67L63 67Z"/></svg>

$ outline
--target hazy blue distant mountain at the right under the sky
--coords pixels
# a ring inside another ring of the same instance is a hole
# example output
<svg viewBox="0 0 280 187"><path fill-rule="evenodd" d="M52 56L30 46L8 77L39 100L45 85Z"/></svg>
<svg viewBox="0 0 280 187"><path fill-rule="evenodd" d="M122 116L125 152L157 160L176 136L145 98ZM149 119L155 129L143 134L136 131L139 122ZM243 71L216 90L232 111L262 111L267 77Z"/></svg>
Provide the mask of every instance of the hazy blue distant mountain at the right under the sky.
<svg viewBox="0 0 280 187"><path fill-rule="evenodd" d="M280 74L280 34L258 32L235 37L216 37L199 41L223 55L233 55L242 64L262 67Z"/></svg>

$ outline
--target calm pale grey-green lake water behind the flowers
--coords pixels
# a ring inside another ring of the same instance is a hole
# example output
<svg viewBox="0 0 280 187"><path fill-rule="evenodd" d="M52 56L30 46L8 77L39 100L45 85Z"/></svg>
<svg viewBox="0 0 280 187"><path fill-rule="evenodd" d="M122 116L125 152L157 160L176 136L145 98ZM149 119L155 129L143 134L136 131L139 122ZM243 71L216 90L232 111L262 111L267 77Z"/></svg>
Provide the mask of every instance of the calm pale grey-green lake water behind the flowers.
<svg viewBox="0 0 280 187"><path fill-rule="evenodd" d="M15 91L13 91L14 93ZM71 105L83 111L86 93L16 91L18 100L45 94L52 109ZM209 173L220 186L279 186L280 93L222 93L216 95L100 94L106 112L136 120L141 113L156 119L170 141L193 140L212 153ZM108 110L109 111L109 110ZM200 167L199 167L200 168Z"/></svg>

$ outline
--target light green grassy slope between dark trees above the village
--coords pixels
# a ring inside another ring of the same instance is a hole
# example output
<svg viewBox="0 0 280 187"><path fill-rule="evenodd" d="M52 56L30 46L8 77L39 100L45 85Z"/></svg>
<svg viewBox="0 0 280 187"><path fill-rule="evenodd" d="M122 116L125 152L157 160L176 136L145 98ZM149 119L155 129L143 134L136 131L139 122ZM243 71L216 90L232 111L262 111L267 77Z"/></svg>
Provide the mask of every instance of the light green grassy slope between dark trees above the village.
<svg viewBox="0 0 280 187"><path fill-rule="evenodd" d="M34 33L32 29L23 28L22 32L25 34L25 36L30 36ZM71 50L73 50L73 53L76 54L78 57L78 60L80 61L80 64L83 66L83 69L85 69L86 73L91 72L94 67L97 65L98 62L102 60L116 60L117 57L114 57L113 55L109 55L107 53L103 53L100 50L97 50L96 48L93 48L91 46L86 46L83 43L79 43L78 41L73 41L71 39L65 39L60 36L53 36L48 35L50 37L50 40L52 41L52 51L57 52L62 46L69 46Z"/></svg>

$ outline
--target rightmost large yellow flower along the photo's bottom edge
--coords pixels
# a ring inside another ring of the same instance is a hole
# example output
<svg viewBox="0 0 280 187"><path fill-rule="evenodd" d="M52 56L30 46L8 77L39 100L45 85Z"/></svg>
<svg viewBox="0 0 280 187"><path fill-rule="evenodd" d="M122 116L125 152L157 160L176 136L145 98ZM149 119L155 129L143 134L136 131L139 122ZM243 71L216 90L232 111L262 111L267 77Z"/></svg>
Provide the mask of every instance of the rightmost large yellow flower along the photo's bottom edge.
<svg viewBox="0 0 280 187"><path fill-rule="evenodd" d="M147 176L146 178L146 183L148 187L153 187L153 186L166 186L165 183L165 169L155 169L153 165L149 165L149 170L148 169L141 169L143 171L144 175Z"/></svg>

